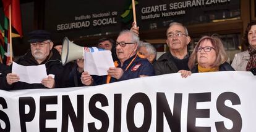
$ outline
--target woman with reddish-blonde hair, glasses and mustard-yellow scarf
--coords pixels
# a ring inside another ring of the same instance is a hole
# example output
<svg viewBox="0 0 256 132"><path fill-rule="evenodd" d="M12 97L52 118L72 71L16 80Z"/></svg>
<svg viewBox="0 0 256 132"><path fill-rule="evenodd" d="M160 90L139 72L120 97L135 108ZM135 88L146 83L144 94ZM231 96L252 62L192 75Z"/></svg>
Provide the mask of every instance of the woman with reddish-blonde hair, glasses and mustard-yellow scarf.
<svg viewBox="0 0 256 132"><path fill-rule="evenodd" d="M228 56L216 36L203 36L189 58L189 69L196 72L234 71L226 62Z"/></svg>

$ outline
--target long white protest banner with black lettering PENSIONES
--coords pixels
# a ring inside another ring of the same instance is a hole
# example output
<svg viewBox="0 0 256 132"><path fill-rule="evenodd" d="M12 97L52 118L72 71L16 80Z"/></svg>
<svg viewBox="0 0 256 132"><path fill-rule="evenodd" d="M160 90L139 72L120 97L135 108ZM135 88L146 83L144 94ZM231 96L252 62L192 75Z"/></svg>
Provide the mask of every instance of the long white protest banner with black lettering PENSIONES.
<svg viewBox="0 0 256 132"><path fill-rule="evenodd" d="M254 131L256 76L211 72L0 90L0 131Z"/></svg>

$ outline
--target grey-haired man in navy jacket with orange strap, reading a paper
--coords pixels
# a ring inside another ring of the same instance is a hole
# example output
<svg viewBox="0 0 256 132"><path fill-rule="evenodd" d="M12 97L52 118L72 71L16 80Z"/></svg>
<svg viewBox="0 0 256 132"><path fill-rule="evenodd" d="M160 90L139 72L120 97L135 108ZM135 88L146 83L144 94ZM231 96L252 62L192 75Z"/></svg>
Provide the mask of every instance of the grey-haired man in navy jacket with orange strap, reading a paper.
<svg viewBox="0 0 256 132"><path fill-rule="evenodd" d="M81 81L84 85L99 85L137 77L154 76L153 66L145 58L137 54L139 37L132 31L122 31L116 39L115 68L108 69L108 76L93 78L88 72L83 72Z"/></svg>

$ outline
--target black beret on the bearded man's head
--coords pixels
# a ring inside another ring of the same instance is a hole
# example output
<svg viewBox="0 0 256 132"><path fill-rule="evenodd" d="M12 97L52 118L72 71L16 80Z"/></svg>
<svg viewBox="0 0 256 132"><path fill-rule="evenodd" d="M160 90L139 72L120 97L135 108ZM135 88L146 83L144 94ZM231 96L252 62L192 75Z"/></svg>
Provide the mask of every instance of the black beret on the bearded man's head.
<svg viewBox="0 0 256 132"><path fill-rule="evenodd" d="M51 34L45 30L35 30L28 33L28 42L43 42L46 40L51 40Z"/></svg>

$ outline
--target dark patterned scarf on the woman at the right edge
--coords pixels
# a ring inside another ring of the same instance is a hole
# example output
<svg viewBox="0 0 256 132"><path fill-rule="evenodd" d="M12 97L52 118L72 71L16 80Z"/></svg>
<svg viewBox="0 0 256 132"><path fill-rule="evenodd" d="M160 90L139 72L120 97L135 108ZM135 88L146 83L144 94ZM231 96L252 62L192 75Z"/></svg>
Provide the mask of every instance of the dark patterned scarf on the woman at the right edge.
<svg viewBox="0 0 256 132"><path fill-rule="evenodd" d="M247 50L250 54L250 59L247 63L246 71L250 71L250 69L256 68L256 49L249 46Z"/></svg>

